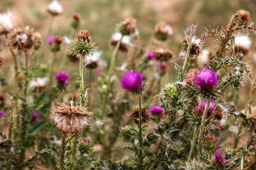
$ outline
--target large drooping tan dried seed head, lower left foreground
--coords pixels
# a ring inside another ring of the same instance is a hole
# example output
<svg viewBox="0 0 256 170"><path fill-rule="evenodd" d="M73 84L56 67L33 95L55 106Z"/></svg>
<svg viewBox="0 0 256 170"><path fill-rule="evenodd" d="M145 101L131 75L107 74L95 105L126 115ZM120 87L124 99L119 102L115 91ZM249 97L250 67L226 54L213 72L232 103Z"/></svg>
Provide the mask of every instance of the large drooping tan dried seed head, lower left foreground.
<svg viewBox="0 0 256 170"><path fill-rule="evenodd" d="M93 115L84 107L75 107L73 101L68 106L60 102L51 112L58 129L65 134L81 133L89 125L89 118Z"/></svg>

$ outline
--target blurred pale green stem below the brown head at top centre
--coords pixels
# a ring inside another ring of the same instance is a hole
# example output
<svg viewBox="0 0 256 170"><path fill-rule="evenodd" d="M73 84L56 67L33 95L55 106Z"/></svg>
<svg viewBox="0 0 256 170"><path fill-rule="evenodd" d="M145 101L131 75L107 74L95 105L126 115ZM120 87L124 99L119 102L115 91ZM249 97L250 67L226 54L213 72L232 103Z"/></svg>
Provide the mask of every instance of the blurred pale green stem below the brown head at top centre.
<svg viewBox="0 0 256 170"><path fill-rule="evenodd" d="M102 117L104 116L105 111L106 111L106 104L107 104L107 98L108 98L108 92L109 92L108 88L109 88L109 85L110 85L110 79L111 79L113 69L114 69L114 65L115 65L115 62L116 62L116 55L117 55L119 46L121 44L122 38L123 38L123 35L120 38L120 40L117 42L116 47L115 47L114 52L113 52L113 55L112 55L112 58L111 58L111 63L110 63L109 70L108 70L108 80L107 80L107 87L106 87L107 91L106 91L106 93L103 97L102 115L101 115Z"/></svg>

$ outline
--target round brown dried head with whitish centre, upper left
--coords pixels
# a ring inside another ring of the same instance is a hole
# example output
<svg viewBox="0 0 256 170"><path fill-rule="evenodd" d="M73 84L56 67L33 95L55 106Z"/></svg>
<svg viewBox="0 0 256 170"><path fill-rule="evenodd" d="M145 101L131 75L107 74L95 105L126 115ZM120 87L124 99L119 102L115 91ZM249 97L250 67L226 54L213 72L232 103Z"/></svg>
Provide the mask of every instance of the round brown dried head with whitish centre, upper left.
<svg viewBox="0 0 256 170"><path fill-rule="evenodd" d="M9 43L12 48L19 51L32 50L35 45L35 40L32 38L33 31L26 28L16 28L9 36Z"/></svg>

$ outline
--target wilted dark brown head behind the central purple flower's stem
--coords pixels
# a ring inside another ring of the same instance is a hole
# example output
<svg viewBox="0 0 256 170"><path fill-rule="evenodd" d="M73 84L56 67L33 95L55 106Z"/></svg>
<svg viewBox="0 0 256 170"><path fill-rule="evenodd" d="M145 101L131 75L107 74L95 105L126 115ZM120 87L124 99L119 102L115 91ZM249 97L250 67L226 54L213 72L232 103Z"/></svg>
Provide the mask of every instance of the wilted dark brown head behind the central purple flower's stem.
<svg viewBox="0 0 256 170"><path fill-rule="evenodd" d="M142 116L142 120L141 120L142 123L148 122L148 120L150 120L150 115L148 114L148 110L144 106L141 108L141 116ZM131 110L130 117L138 125L139 124L139 108L135 108Z"/></svg>

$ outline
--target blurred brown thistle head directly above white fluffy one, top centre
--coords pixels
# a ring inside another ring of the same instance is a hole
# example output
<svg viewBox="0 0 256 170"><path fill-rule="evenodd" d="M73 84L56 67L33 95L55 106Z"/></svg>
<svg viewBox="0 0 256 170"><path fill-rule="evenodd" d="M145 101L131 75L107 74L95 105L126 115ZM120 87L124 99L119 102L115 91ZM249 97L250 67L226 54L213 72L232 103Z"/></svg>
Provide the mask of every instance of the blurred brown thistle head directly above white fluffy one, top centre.
<svg viewBox="0 0 256 170"><path fill-rule="evenodd" d="M126 18L117 25L117 30L122 35L132 35L137 32L136 20L132 17Z"/></svg>

